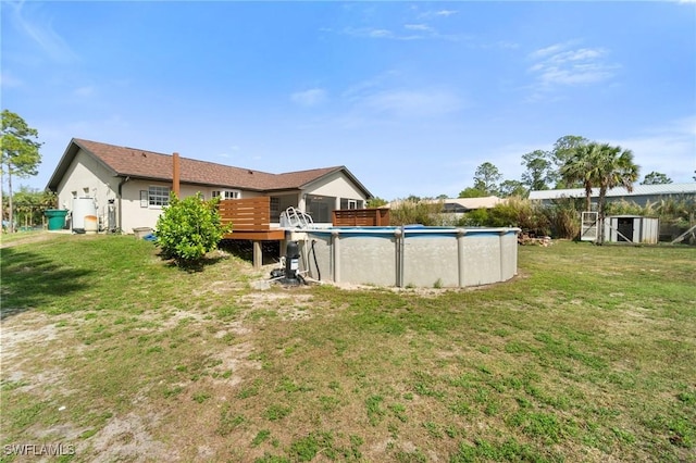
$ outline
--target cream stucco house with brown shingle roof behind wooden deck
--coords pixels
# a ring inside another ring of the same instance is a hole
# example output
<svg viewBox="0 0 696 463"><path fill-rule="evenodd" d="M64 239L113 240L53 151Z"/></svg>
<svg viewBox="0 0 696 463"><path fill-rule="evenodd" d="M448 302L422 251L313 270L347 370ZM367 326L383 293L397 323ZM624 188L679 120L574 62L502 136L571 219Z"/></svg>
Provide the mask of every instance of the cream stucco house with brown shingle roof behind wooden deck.
<svg viewBox="0 0 696 463"><path fill-rule="evenodd" d="M133 233L154 228L170 191L181 197L269 197L271 217L289 207L331 223L333 210L362 209L370 191L345 166L271 174L137 148L72 139L47 189L59 208L73 210L80 198L94 198L101 229Z"/></svg>

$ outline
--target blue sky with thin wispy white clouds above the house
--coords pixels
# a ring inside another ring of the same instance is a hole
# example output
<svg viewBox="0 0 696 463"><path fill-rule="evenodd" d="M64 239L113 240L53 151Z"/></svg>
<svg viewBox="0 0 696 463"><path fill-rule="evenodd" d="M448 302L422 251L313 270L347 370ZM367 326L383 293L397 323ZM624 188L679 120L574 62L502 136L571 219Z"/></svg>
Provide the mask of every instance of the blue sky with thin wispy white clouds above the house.
<svg viewBox="0 0 696 463"><path fill-rule="evenodd" d="M9 2L2 108L71 138L456 197L581 135L693 182L694 2ZM15 185L16 185L15 180Z"/></svg>

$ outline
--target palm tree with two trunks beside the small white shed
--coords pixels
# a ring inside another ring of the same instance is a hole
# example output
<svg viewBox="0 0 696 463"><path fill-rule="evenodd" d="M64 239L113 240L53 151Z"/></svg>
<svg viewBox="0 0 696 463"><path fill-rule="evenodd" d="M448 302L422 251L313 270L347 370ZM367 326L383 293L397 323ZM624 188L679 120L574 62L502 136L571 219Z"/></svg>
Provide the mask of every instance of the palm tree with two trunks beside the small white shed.
<svg viewBox="0 0 696 463"><path fill-rule="evenodd" d="M633 191L639 167L633 162L633 152L608 143L592 142L577 147L561 167L561 176L568 183L580 182L585 188L585 209L589 211L593 188L599 188L599 221L605 217L607 191L625 187ZM604 229L599 240L604 240Z"/></svg>

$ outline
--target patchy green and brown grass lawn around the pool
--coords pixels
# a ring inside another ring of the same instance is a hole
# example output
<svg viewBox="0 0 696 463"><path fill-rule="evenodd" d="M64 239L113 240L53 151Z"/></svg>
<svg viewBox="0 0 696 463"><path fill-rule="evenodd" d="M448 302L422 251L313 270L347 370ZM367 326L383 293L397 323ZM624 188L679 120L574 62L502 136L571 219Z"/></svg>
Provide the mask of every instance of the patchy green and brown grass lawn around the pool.
<svg viewBox="0 0 696 463"><path fill-rule="evenodd" d="M133 237L29 241L0 250L3 462L696 461L694 248L260 291L223 253L187 273Z"/></svg>

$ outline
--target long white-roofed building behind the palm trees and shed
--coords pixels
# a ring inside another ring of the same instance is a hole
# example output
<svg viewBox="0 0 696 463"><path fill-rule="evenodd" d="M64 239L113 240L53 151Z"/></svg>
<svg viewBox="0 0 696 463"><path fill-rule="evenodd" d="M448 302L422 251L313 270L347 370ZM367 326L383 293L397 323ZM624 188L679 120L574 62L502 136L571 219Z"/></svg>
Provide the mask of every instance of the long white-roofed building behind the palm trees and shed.
<svg viewBox="0 0 696 463"><path fill-rule="evenodd" d="M561 190L537 190L530 191L530 199L550 203L560 198L585 198L584 188L561 189ZM593 188L592 202L597 203L599 188ZM694 184L666 184L666 185L634 185L633 191L629 192L623 187L612 188L607 191L607 202L625 200L645 207L648 202L656 203L663 199L691 199L696 200L696 183Z"/></svg>

